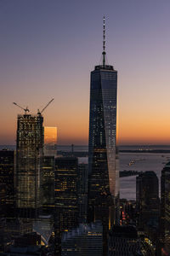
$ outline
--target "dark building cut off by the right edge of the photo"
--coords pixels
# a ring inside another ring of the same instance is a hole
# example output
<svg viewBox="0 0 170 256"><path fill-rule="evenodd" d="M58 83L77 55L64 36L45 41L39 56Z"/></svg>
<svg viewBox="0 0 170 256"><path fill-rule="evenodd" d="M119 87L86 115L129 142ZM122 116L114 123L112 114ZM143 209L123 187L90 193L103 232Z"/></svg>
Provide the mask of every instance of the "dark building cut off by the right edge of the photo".
<svg viewBox="0 0 170 256"><path fill-rule="evenodd" d="M170 162L161 171L161 253L170 255Z"/></svg>

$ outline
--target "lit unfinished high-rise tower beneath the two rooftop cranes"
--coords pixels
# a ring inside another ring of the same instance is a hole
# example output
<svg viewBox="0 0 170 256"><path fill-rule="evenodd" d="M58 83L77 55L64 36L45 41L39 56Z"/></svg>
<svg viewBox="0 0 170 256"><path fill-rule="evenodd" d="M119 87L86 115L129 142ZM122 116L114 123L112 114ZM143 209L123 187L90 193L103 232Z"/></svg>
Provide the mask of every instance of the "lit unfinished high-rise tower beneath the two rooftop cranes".
<svg viewBox="0 0 170 256"><path fill-rule="evenodd" d="M43 150L41 114L20 114L17 124L16 191L20 217L36 218L40 208L40 157Z"/></svg>

